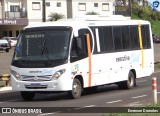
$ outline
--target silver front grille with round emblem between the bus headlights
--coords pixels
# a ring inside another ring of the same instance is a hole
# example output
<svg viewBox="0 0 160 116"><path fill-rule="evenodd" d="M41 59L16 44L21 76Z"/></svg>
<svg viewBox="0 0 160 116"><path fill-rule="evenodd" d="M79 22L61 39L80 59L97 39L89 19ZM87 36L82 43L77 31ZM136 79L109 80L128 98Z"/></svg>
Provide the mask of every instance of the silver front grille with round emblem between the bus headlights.
<svg viewBox="0 0 160 116"><path fill-rule="evenodd" d="M52 75L43 75L43 76L25 76L22 75L22 81L50 81Z"/></svg>

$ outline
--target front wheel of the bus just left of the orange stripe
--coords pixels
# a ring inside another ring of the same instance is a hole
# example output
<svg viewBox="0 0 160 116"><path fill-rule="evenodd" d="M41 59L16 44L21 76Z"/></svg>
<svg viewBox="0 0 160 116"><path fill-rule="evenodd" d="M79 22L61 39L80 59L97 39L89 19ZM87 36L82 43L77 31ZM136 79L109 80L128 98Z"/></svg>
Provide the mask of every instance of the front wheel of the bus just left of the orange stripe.
<svg viewBox="0 0 160 116"><path fill-rule="evenodd" d="M69 91L69 95L73 99L80 98L82 94L82 85L78 79L74 79L72 90Z"/></svg>

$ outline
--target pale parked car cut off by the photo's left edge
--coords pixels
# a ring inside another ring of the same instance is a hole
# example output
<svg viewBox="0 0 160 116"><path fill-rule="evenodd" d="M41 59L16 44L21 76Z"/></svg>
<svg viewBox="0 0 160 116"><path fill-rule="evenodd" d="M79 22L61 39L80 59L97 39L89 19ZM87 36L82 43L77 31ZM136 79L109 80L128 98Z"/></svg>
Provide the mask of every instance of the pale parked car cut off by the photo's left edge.
<svg viewBox="0 0 160 116"><path fill-rule="evenodd" d="M6 39L0 39L0 50L9 52L10 48L11 48L11 45Z"/></svg>

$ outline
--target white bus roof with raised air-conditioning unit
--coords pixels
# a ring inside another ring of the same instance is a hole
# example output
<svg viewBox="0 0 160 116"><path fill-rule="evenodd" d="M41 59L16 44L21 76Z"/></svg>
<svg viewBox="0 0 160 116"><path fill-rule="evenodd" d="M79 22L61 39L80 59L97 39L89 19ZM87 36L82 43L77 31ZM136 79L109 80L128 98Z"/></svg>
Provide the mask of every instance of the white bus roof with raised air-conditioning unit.
<svg viewBox="0 0 160 116"><path fill-rule="evenodd" d="M73 28L85 28L88 26L120 26L120 25L138 25L150 24L145 20L132 20L121 15L97 16L89 15L84 17L75 17L72 19L62 19L53 22L43 22L40 24L29 25L25 28L50 27L50 26L70 26Z"/></svg>

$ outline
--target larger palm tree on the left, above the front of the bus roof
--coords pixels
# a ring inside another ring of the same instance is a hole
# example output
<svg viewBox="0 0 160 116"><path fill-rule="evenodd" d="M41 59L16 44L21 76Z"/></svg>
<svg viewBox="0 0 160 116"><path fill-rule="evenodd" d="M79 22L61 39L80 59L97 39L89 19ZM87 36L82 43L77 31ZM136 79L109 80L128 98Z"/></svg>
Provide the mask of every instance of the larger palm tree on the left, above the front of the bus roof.
<svg viewBox="0 0 160 116"><path fill-rule="evenodd" d="M57 21L57 20L59 20L59 19L63 19L63 18L65 18L65 16L63 15L63 14L61 14L61 13L51 13L49 16L49 21Z"/></svg>

